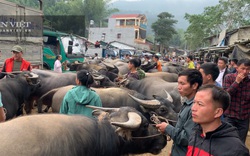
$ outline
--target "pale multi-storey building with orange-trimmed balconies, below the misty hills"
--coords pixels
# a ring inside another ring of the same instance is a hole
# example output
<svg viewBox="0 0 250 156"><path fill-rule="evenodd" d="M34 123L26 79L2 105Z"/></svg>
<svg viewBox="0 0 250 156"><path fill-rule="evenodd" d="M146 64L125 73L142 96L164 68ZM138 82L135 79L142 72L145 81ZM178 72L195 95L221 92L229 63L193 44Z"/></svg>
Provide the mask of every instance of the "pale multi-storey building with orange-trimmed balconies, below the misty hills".
<svg viewBox="0 0 250 156"><path fill-rule="evenodd" d="M113 15L108 27L90 27L90 41L119 41L138 49L149 49L146 44L147 18L142 14Z"/></svg>

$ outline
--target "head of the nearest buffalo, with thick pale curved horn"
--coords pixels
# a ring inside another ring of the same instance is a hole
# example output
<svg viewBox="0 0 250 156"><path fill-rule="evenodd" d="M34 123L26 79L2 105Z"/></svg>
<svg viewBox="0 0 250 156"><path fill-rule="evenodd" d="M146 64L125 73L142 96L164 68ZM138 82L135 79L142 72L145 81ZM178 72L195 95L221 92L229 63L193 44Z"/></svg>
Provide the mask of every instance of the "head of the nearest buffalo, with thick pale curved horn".
<svg viewBox="0 0 250 156"><path fill-rule="evenodd" d="M122 153L158 154L167 144L166 137L149 124L148 120L131 107L101 108L93 107L93 114L100 119L108 119L114 126L122 142ZM159 135L158 135L159 134Z"/></svg>

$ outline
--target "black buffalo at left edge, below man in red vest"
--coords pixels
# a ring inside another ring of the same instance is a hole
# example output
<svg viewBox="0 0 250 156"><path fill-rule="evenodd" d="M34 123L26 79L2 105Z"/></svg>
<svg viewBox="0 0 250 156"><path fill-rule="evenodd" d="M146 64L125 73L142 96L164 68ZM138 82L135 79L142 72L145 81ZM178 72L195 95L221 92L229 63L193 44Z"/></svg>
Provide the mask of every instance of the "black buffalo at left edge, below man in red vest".
<svg viewBox="0 0 250 156"><path fill-rule="evenodd" d="M6 109L6 120L23 114L23 103L40 87L38 75L32 72L10 74L12 78L0 80L3 107Z"/></svg>

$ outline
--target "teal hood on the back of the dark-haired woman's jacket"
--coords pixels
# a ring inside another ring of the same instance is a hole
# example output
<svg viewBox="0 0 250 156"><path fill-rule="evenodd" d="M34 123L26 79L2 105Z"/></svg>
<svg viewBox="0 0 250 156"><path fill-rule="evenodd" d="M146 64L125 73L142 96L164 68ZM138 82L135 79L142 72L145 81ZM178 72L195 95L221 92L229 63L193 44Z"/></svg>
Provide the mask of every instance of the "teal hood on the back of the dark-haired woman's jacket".
<svg viewBox="0 0 250 156"><path fill-rule="evenodd" d="M87 105L90 103L90 101L95 98L95 94L91 94L91 92L94 92L90 88L87 88L85 86L75 86L71 90L71 94L73 99L77 102L79 105Z"/></svg>

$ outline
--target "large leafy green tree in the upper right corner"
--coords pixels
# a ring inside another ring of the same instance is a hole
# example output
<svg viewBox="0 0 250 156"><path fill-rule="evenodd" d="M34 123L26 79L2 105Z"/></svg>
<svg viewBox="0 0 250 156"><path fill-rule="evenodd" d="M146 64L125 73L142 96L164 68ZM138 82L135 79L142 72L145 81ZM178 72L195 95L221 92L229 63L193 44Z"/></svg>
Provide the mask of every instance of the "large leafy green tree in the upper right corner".
<svg viewBox="0 0 250 156"><path fill-rule="evenodd" d="M204 38L219 35L222 30L232 30L250 24L250 0L220 0L219 4L206 7L198 15L185 15L190 23L185 38L190 49L207 45Z"/></svg>

